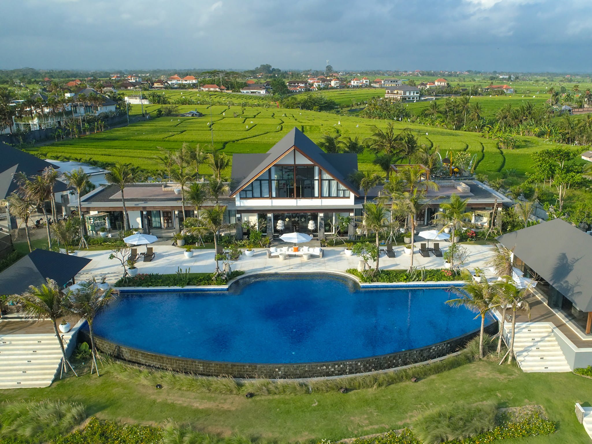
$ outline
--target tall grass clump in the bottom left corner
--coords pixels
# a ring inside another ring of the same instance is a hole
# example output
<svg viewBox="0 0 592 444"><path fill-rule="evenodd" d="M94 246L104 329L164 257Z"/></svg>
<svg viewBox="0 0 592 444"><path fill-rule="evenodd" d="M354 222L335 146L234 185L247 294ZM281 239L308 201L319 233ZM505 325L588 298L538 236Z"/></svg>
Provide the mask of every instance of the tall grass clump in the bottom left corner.
<svg viewBox="0 0 592 444"><path fill-rule="evenodd" d="M0 438L30 443L46 442L63 435L86 419L78 403L43 400L0 404Z"/></svg>

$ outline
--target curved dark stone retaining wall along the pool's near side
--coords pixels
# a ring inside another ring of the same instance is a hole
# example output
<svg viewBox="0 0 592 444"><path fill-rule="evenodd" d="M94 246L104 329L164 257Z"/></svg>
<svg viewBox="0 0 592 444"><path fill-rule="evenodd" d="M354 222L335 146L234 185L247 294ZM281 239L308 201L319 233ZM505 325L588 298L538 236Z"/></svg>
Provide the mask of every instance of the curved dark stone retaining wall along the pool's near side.
<svg viewBox="0 0 592 444"><path fill-rule="evenodd" d="M492 335L496 334L498 332L498 323L494 322L486 326L485 332ZM83 330L81 333L82 336L87 336L86 330ZM176 356L160 355L158 353L117 345L96 336L95 345L99 350L113 358L176 372L207 376L229 375L235 378L317 378L388 370L413 363L429 361L430 359L441 358L463 348L469 340L478 335L479 330L475 330L463 336L426 347L374 356L372 358L291 364L231 363L178 358Z"/></svg>

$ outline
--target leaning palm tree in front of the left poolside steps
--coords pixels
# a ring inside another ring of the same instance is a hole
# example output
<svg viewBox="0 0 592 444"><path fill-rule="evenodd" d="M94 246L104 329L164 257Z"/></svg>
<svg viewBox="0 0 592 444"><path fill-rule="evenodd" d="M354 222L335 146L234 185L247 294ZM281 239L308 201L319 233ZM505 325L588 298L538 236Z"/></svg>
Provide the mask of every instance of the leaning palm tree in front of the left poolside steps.
<svg viewBox="0 0 592 444"><path fill-rule="evenodd" d="M57 331L56 320L64 316L64 294L57 287L56 281L47 278L47 284L41 284L40 287L31 285L28 291L21 295L15 295L15 297L21 303L21 310L28 317L38 320L49 318L52 321L53 331L56 333L57 342L60 343L60 349L62 349L62 369L67 373L67 364L76 375L76 371L66 356L62 336Z"/></svg>

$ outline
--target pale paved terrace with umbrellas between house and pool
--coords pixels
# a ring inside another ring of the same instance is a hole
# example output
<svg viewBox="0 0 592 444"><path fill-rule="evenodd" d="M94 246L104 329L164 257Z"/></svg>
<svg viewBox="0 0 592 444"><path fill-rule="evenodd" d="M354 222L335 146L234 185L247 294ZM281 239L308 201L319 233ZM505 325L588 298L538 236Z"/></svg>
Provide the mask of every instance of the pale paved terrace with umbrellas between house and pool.
<svg viewBox="0 0 592 444"><path fill-rule="evenodd" d="M440 242L440 249L443 252L449 247L449 243ZM464 266L470 271L475 267L485 268L493 256L495 248L491 245L463 244L469 250L468 259ZM212 273L215 269L214 250L199 249L194 250L192 258L185 258L184 249L171 246L170 244L154 244L153 250L156 253L152 262L138 262L136 267L139 273L159 273L174 274L178 268L182 271L189 269L192 273ZM382 270L408 269L411 265L411 255L404 253L404 246L400 244L393 246L395 258L388 258L381 253L379 266ZM436 258L430 253L429 258L424 258L417 251L419 243L416 243L416 253L413 255L413 265L416 268L443 268L444 259ZM247 258L241 255L239 260L231 263L233 270L243 270L247 273L257 272L293 272L293 271L340 271L348 268L358 267L358 258L356 256L346 256L344 247L324 247L323 258L311 258L304 260L299 256L288 256L288 259L281 260L277 257L268 258L266 249L255 249L255 255ZM144 251L144 247L138 247L138 252ZM123 274L121 264L113 259L109 259L110 250L85 251L79 250L76 256L92 259L82 272L77 276L80 279L95 278L97 281L105 276L107 282L115 282ZM220 262L220 266L222 263ZM489 276L488 276L489 277Z"/></svg>

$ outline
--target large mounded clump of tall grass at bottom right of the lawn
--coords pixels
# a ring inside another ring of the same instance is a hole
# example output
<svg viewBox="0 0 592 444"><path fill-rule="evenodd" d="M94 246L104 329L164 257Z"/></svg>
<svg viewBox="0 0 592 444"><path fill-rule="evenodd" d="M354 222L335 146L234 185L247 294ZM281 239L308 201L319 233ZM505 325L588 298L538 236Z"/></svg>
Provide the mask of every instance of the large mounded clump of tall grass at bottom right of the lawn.
<svg viewBox="0 0 592 444"><path fill-rule="evenodd" d="M494 404L454 403L422 414L413 423L415 435L426 444L465 439L496 426Z"/></svg>

